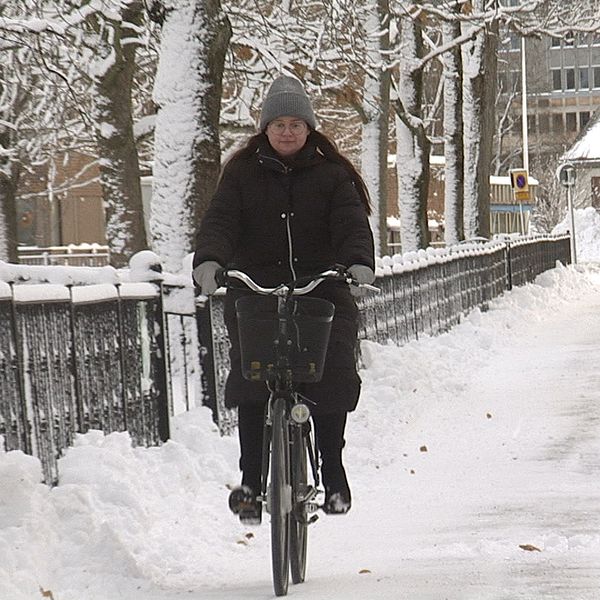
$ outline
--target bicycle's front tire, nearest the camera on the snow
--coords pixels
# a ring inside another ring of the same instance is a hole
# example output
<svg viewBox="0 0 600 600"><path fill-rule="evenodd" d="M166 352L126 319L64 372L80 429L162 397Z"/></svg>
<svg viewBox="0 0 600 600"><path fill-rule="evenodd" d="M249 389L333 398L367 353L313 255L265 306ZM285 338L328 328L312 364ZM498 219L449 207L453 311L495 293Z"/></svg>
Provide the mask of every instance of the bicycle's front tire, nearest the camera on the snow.
<svg viewBox="0 0 600 600"><path fill-rule="evenodd" d="M272 407L271 437L271 563L276 596L287 594L290 573L291 485L289 432L285 417L285 399L277 398Z"/></svg>

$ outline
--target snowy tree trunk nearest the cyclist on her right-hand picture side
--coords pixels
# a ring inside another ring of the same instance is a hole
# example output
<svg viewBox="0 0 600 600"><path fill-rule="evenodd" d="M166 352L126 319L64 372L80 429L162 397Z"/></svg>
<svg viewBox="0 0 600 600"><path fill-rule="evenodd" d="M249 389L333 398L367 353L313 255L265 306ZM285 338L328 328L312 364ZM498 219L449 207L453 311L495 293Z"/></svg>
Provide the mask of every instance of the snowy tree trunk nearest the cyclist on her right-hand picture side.
<svg viewBox="0 0 600 600"><path fill-rule="evenodd" d="M388 0L373 0L367 3L369 19L366 23L367 45L370 62L385 64L385 53L389 50ZM375 237L375 252L387 254L388 214L388 153L390 119L390 72L378 69L376 79L365 76L363 94L362 131L362 175L371 195L373 213L371 228Z"/></svg>

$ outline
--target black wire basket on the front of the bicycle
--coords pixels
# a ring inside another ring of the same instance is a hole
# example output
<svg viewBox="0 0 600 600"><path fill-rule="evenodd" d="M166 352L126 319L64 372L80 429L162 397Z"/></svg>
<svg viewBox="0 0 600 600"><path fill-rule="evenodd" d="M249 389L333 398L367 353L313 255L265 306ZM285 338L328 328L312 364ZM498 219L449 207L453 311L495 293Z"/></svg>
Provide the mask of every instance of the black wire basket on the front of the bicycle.
<svg viewBox="0 0 600 600"><path fill-rule="evenodd" d="M235 303L238 318L242 375L250 381L268 381L281 370L292 381L310 383L323 377L334 305L321 298L291 299L292 314L285 319L281 348L275 296L243 296ZM278 349L281 348L281 352ZM278 366L279 361L279 366Z"/></svg>

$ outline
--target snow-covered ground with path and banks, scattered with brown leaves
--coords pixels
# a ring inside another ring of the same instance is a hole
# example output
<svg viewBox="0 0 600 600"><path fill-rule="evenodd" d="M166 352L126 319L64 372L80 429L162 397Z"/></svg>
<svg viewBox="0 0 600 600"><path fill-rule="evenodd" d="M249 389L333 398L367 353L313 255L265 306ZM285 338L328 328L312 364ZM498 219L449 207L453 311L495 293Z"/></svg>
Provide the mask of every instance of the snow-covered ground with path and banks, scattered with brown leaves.
<svg viewBox="0 0 600 600"><path fill-rule="evenodd" d="M311 527L290 597L598 598L599 354L596 264L559 266L448 334L364 344L354 506ZM245 528L226 508L237 440L203 408L173 425L160 448L80 436L54 489L36 459L0 453L0 600L272 596L268 517Z"/></svg>

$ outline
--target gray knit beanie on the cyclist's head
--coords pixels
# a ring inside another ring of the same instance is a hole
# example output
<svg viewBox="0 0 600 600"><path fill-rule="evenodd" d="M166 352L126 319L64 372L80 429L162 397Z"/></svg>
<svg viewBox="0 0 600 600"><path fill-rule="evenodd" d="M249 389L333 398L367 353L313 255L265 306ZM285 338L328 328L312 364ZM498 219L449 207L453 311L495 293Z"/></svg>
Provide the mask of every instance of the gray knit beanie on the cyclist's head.
<svg viewBox="0 0 600 600"><path fill-rule="evenodd" d="M295 77L282 75L271 84L260 111L260 130L264 131L278 117L297 117L311 129L317 128L310 99Z"/></svg>

